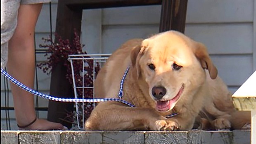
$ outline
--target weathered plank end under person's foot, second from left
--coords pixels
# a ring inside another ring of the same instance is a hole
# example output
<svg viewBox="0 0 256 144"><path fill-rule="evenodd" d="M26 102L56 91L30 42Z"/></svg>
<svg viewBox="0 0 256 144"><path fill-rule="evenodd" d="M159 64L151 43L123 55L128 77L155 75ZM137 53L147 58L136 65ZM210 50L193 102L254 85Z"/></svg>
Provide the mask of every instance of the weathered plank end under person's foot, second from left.
<svg viewBox="0 0 256 144"><path fill-rule="evenodd" d="M60 144L59 131L22 131L19 144Z"/></svg>

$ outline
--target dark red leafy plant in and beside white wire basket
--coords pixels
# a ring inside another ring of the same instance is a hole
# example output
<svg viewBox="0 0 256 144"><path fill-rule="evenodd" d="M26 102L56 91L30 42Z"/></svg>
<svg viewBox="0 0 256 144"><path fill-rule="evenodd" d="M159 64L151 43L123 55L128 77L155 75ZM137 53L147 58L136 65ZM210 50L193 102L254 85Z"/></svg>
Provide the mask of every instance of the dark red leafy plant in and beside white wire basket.
<svg viewBox="0 0 256 144"><path fill-rule="evenodd" d="M77 33L74 33L74 39L72 43L69 42L69 39L62 39L58 35L55 35L58 38L58 43L54 43L51 37L42 38L47 44L40 44L40 48L46 48L47 53L45 56L47 57L47 61L39 63L37 66L43 70L44 73L50 74L52 67L55 67L57 63L63 63L66 67L66 79L69 80L69 83L73 85L72 79L72 71L71 64L68 61L69 55L71 54L87 54L85 51L83 52L82 48L84 45L80 43L80 37ZM49 56L50 55L50 56ZM85 63L83 67L83 62ZM95 77L100 70L100 65L96 63L95 65ZM84 86L84 87L92 87L93 86L93 60L73 60L73 71L76 86ZM84 74L84 75L83 75ZM84 79L84 80L83 80ZM77 88L78 98L93 98L93 89L92 88ZM79 121L78 123L83 124L83 114L84 120L86 120L93 109L92 103L78 103L79 111L82 111L82 107L84 107L83 112L79 112L76 114L73 112L72 114L67 114L67 120L73 123L73 117L78 115Z"/></svg>

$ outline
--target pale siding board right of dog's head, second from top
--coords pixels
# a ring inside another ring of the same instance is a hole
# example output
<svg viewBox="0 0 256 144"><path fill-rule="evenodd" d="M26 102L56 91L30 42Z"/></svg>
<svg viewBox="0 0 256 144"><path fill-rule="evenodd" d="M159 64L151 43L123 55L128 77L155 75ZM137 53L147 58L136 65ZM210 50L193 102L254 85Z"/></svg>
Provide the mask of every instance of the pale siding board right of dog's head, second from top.
<svg viewBox="0 0 256 144"><path fill-rule="evenodd" d="M185 34L212 54L252 53L252 23L187 24Z"/></svg>

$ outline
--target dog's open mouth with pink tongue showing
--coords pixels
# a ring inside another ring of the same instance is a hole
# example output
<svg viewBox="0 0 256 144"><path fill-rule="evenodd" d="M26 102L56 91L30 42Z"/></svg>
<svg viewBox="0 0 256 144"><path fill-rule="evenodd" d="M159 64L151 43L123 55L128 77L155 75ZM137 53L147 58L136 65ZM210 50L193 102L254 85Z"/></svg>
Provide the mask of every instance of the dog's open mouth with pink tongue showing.
<svg viewBox="0 0 256 144"><path fill-rule="evenodd" d="M172 109L175 105L175 103L178 101L178 99L180 98L180 95L182 94L184 89L184 84L182 84L179 92L177 93L177 95L171 99L171 100L165 100L165 101L157 101L156 102L156 110L158 111L168 111L170 109Z"/></svg>

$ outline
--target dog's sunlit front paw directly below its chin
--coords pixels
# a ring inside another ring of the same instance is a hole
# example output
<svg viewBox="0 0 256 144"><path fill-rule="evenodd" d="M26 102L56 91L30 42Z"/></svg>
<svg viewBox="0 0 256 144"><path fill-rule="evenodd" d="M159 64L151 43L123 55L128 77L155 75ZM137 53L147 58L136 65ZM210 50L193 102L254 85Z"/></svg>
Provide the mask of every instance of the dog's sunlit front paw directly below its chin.
<svg viewBox="0 0 256 144"><path fill-rule="evenodd" d="M172 120L158 120L154 123L155 130L173 131L180 128L179 124Z"/></svg>

